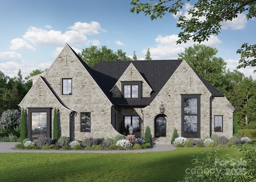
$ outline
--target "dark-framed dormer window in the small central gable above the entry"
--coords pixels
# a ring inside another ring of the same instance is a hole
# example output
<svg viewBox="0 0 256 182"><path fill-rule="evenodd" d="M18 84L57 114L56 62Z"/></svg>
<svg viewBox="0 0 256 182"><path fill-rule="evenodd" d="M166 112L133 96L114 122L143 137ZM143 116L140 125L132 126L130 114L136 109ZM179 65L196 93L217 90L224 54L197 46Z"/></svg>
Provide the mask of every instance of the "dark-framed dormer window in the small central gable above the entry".
<svg viewBox="0 0 256 182"><path fill-rule="evenodd" d="M141 81L122 82L122 96L126 99L141 99L141 84Z"/></svg>

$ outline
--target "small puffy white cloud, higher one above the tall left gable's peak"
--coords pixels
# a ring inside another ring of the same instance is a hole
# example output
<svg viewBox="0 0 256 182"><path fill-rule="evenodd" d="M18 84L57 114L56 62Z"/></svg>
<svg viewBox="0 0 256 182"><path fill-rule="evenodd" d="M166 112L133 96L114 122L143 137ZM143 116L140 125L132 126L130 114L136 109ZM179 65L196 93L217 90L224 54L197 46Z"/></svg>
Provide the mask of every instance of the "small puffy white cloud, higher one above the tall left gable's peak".
<svg viewBox="0 0 256 182"><path fill-rule="evenodd" d="M100 27L100 23L98 22L90 22L90 23L76 22L73 26L68 28L72 30L76 30L79 33L84 35L99 34L99 30L106 32L106 30Z"/></svg>

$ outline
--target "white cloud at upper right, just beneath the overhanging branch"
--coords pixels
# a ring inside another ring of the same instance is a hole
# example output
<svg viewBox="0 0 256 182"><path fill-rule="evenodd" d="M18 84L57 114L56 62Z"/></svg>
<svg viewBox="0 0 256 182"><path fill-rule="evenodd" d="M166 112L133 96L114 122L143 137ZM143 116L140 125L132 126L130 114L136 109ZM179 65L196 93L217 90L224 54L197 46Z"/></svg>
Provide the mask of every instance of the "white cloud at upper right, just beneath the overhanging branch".
<svg viewBox="0 0 256 182"><path fill-rule="evenodd" d="M247 18L245 14L238 14L237 18L233 18L232 21L228 20L226 22L221 22L222 29L244 29L247 23Z"/></svg>

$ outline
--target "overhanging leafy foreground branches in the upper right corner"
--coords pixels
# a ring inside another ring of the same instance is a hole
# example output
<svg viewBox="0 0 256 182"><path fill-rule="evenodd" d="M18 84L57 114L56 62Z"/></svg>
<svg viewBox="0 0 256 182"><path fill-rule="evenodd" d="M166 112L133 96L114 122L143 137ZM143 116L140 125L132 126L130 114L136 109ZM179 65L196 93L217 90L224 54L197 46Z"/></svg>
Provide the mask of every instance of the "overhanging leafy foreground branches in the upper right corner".
<svg viewBox="0 0 256 182"><path fill-rule="evenodd" d="M148 0L152 1L152 0ZM167 13L177 14L184 6L184 0L155 0L154 3L141 3L140 0L132 0L134 6L130 12L136 14L144 12L151 20L162 18ZM256 0L232 1L232 0L198 0L194 7L188 11L188 15L178 18L177 27L181 28L178 34L177 43L186 43L192 38L199 43L208 40L210 35L218 35L222 28L221 23L232 21L238 14L246 14L247 20L256 16ZM246 66L256 66L256 45L244 43L237 53L241 54L241 63L238 68ZM255 72L256 70L254 70Z"/></svg>

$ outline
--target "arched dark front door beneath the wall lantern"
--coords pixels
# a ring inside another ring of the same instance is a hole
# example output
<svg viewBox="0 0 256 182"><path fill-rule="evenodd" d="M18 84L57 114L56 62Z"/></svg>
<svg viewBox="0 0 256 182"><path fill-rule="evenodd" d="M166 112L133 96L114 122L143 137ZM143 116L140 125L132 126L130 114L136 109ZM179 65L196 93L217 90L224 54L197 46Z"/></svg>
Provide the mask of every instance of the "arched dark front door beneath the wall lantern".
<svg viewBox="0 0 256 182"><path fill-rule="evenodd" d="M155 137L166 137L166 118L164 114L155 117Z"/></svg>

